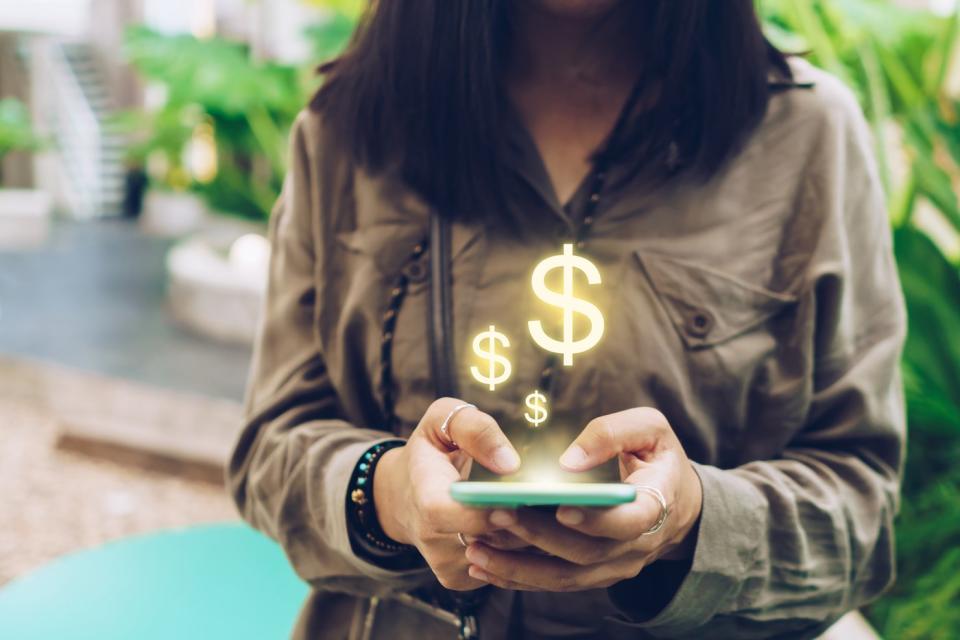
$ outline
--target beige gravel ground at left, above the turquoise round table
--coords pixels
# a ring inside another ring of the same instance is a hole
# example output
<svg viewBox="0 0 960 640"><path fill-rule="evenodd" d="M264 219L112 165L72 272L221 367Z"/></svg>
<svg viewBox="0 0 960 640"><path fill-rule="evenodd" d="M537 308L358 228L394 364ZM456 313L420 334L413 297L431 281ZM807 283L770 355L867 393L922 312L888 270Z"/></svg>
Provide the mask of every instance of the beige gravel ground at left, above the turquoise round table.
<svg viewBox="0 0 960 640"><path fill-rule="evenodd" d="M224 490L60 451L56 420L0 398L0 585L67 552L237 519Z"/></svg>

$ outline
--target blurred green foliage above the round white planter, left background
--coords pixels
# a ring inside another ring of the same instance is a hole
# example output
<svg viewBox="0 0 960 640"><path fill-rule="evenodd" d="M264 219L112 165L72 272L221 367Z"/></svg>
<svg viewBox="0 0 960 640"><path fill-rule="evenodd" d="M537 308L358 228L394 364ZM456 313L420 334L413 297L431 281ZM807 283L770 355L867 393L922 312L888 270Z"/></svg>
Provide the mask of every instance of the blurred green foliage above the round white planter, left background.
<svg viewBox="0 0 960 640"><path fill-rule="evenodd" d="M288 130L304 100L301 70L255 61L242 43L145 27L127 31L125 49L134 68L166 92L158 111L130 116L142 118L149 132L135 156L162 154L171 170L167 183L198 191L215 209L267 217L286 171ZM217 172L209 181L184 179L184 150L204 123L212 127Z"/></svg>

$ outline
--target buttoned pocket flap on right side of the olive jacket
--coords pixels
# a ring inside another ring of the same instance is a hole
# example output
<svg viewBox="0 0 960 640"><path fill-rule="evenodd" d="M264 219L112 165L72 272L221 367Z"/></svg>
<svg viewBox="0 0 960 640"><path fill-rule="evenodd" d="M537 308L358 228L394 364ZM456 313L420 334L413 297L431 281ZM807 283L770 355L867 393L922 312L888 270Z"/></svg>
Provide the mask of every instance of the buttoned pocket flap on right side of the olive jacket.
<svg viewBox="0 0 960 640"><path fill-rule="evenodd" d="M797 300L712 267L647 251L634 256L688 349L727 342Z"/></svg>

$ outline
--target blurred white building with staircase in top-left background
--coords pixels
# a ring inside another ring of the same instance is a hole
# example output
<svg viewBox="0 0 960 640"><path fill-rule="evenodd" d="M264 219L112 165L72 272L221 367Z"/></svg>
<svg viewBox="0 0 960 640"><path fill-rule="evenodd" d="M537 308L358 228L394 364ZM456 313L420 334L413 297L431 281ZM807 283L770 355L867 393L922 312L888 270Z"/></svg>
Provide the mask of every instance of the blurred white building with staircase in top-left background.
<svg viewBox="0 0 960 640"><path fill-rule="evenodd" d="M124 195L124 140L111 113L156 97L122 55L123 33L146 24L168 33L225 35L254 55L305 60L302 29L317 14L299 0L27 0L0 3L0 97L30 106L44 153L12 153L4 185L49 193L69 216L117 214Z"/></svg>

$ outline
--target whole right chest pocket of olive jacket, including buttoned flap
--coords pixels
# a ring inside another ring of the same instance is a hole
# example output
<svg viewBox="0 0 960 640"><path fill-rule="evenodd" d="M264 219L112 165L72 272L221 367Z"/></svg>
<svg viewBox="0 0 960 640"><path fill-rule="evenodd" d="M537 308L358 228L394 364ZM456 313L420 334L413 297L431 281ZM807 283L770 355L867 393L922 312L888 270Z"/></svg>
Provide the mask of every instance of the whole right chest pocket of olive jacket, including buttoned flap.
<svg viewBox="0 0 960 640"><path fill-rule="evenodd" d="M803 419L793 292L631 249L609 308L604 413L653 406L688 455L738 459L750 428Z"/></svg>

